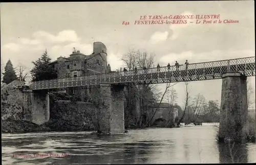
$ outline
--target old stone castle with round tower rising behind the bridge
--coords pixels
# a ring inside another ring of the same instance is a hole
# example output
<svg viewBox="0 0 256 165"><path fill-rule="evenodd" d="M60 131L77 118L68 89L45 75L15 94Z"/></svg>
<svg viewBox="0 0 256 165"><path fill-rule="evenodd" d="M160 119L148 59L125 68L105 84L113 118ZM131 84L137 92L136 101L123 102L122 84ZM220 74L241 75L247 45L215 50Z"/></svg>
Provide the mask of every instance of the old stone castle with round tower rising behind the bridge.
<svg viewBox="0 0 256 165"><path fill-rule="evenodd" d="M111 72L107 56L106 46L102 42L94 42L93 53L91 55L80 53L80 51L76 51L74 48L73 53L69 55L69 57L58 57L57 60L51 62L50 65L54 65L54 68L57 70L58 79L106 74ZM89 91L91 91L91 89L89 89ZM79 97L84 97L86 93L88 93L88 89L72 89L68 90L68 92L76 93Z"/></svg>

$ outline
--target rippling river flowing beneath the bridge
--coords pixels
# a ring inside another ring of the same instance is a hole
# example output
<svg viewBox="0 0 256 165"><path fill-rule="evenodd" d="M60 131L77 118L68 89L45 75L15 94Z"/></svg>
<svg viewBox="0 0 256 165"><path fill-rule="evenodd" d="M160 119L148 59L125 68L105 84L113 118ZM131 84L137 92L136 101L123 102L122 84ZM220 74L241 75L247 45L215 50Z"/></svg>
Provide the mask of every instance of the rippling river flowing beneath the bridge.
<svg viewBox="0 0 256 165"><path fill-rule="evenodd" d="M255 162L256 145L218 145L214 124L90 132L2 134L2 164ZM24 156L26 155L26 156Z"/></svg>

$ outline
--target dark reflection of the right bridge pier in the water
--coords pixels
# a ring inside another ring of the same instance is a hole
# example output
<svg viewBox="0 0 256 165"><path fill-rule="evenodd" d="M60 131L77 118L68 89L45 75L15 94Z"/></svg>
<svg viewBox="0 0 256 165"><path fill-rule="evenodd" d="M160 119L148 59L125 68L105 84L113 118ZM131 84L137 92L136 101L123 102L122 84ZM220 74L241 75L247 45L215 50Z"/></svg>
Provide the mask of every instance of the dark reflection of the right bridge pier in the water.
<svg viewBox="0 0 256 165"><path fill-rule="evenodd" d="M248 150L246 145L234 143L219 144L220 163L247 163Z"/></svg>

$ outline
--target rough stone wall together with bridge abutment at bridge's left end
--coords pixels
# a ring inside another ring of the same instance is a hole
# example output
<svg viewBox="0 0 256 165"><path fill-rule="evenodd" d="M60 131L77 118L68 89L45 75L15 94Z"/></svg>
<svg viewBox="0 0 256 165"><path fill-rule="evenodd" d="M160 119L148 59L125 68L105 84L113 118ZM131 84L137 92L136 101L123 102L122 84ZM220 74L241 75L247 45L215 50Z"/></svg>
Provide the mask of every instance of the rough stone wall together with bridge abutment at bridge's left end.
<svg viewBox="0 0 256 165"><path fill-rule="evenodd" d="M36 124L49 121L47 92L26 90L24 81L15 80L1 89L2 120L27 120Z"/></svg>

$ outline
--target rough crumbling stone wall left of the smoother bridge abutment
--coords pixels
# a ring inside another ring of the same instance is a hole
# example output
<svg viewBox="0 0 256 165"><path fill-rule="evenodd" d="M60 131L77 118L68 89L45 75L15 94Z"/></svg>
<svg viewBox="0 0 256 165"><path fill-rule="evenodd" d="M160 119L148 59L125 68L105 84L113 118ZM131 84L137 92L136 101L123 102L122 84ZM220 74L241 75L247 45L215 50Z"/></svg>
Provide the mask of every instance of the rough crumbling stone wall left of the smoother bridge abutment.
<svg viewBox="0 0 256 165"><path fill-rule="evenodd" d="M23 119L24 81L14 80L1 88L2 120L8 117L15 120Z"/></svg>

